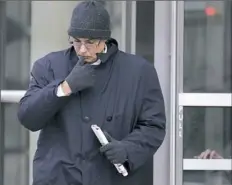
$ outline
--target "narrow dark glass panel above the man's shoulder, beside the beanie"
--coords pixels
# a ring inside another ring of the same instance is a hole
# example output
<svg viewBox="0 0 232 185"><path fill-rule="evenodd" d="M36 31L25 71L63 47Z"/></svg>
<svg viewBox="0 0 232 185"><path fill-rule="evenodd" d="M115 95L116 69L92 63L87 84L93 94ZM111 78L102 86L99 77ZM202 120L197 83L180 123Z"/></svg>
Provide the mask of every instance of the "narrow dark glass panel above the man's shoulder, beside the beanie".
<svg viewBox="0 0 232 185"><path fill-rule="evenodd" d="M137 1L136 54L154 63L154 1Z"/></svg>

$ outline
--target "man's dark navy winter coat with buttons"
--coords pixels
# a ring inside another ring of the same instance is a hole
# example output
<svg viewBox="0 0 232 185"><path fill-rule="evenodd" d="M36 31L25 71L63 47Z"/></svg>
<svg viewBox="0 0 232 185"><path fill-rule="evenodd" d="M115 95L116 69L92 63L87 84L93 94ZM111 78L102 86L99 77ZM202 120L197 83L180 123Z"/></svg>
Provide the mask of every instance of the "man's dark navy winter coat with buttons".
<svg viewBox="0 0 232 185"><path fill-rule="evenodd" d="M68 97L57 97L56 91L77 61L73 48L34 63L18 112L27 129L41 130L34 185L152 185L152 156L165 136L156 70L142 57L118 50L116 41L108 55L95 69L94 87ZM99 152L92 124L129 143L128 177Z"/></svg>

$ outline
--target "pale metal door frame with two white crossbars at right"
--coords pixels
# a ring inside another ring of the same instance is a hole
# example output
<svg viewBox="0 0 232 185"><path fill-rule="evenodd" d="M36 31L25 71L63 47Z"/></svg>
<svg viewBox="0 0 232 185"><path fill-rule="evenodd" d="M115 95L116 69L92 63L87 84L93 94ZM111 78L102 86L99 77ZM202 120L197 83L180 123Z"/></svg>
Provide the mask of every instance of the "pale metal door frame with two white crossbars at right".
<svg viewBox="0 0 232 185"><path fill-rule="evenodd" d="M184 1L171 4L170 184L182 185L184 170L231 170L231 159L183 159L182 135L184 107L232 107L232 93L183 92Z"/></svg>

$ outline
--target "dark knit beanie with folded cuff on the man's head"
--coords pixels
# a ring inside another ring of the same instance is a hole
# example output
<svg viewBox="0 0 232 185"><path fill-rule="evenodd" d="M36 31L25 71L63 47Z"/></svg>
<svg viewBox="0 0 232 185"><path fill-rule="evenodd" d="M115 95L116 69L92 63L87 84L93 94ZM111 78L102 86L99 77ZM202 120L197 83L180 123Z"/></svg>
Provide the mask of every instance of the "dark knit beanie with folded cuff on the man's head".
<svg viewBox="0 0 232 185"><path fill-rule="evenodd" d="M109 13L100 2L87 0L79 3L72 12L68 34L75 38L109 39Z"/></svg>

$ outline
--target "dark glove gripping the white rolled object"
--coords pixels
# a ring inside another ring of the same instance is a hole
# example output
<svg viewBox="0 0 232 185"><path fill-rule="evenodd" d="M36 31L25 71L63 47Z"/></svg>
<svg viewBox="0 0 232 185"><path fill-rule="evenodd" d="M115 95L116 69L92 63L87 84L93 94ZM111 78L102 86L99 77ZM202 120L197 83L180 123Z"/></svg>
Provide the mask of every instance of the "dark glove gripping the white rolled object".
<svg viewBox="0 0 232 185"><path fill-rule="evenodd" d="M127 161L127 151L126 145L123 141L118 141L112 138L107 132L104 132L109 143L100 148L100 151L105 154L108 160L113 164L121 163Z"/></svg>

